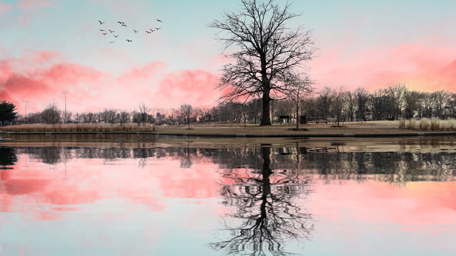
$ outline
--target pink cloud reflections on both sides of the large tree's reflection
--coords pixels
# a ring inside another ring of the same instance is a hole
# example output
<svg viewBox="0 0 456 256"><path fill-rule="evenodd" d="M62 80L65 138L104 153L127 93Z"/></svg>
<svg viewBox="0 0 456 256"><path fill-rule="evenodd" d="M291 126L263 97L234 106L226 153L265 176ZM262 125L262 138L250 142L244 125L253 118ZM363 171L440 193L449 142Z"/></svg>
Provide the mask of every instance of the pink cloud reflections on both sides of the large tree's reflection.
<svg viewBox="0 0 456 256"><path fill-rule="evenodd" d="M200 204L188 199L218 197L217 182L233 182L221 177L218 166L209 159L193 161L190 168L180 168L180 160L171 158L146 159L144 167L138 166L139 161L71 159L67 162L69 179L62 179L63 163L26 163L20 155L14 169L1 171L1 211L27 213L29 220L57 220L64 212L104 199L161 211L167 207L167 198L181 198L178 204ZM238 177L251 176L246 169L235 172ZM344 223L341 220L349 216L360 222L398 223L405 225L404 229L456 224L455 182L415 182L397 187L376 181L345 181L343 185L317 184L315 191L310 195L311 213L328 221Z"/></svg>

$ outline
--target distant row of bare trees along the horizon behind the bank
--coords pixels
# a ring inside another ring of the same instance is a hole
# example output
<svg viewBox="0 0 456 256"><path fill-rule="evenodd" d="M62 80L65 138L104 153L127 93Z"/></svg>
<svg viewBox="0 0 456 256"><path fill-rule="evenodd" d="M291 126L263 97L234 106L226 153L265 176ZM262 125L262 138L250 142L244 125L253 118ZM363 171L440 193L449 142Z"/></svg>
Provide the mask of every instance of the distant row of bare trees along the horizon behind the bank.
<svg viewBox="0 0 456 256"><path fill-rule="evenodd" d="M309 92L310 90L308 90ZM313 90L315 91L315 90ZM50 102L41 112L14 112L11 102L2 102L2 125L10 123L137 123L156 125L201 124L259 124L263 102L254 98L249 102L220 102L212 108L198 108L182 104L179 108L150 108L142 102L134 110L105 108L98 112L62 111ZM5 112L5 114L3 114ZM15 113L15 114L14 114ZM280 122L289 116L296 123L299 116L337 118L350 122L359 120L395 120L402 118L456 118L456 93L445 90L418 92L397 84L368 92L363 87L346 90L343 86L324 87L319 92L290 95L270 103L270 118ZM298 121L299 122L299 121Z"/></svg>

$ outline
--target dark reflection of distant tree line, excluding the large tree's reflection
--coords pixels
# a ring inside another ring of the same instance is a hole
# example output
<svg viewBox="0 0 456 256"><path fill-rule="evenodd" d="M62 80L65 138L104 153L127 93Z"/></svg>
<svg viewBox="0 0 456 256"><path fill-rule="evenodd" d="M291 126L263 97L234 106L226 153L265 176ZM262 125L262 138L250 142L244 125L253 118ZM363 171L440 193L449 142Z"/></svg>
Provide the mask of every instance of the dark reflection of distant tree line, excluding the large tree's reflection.
<svg viewBox="0 0 456 256"><path fill-rule="evenodd" d="M5 148L2 147L5 151ZM261 147L262 148L262 147ZM221 169L260 169L263 159L258 148L87 148L87 147L17 147L18 154L46 164L63 159L174 159L181 168L209 159ZM274 169L299 169L305 174L317 174L326 180L378 180L386 182L454 181L454 153L397 152L316 152L315 148L270 148ZM233 161L236 159L236 161ZM298 167L296 168L296 163ZM140 161L145 165L145 161Z"/></svg>

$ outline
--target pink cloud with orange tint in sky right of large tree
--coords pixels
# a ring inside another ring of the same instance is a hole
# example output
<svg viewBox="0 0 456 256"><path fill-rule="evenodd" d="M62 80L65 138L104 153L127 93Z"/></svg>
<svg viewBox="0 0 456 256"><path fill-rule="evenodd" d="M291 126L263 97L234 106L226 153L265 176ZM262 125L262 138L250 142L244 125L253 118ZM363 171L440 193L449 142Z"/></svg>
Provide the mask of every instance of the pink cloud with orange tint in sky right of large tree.
<svg viewBox="0 0 456 256"><path fill-rule="evenodd" d="M334 46L321 50L310 63L311 76L319 87L346 85L373 91L397 83L411 89L456 91L456 48L432 47L420 43L390 48L369 48L346 55L347 48Z"/></svg>

